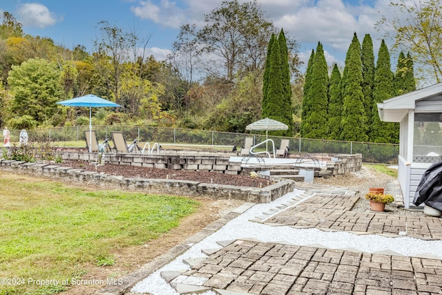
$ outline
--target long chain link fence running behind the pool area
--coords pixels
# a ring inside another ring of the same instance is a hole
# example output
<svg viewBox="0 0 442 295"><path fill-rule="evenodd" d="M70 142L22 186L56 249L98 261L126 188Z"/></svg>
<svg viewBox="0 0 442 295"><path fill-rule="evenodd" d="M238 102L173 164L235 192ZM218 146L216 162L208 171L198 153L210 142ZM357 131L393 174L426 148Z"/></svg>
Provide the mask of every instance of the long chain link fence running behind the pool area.
<svg viewBox="0 0 442 295"><path fill-rule="evenodd" d="M83 141L84 131L88 126L70 126L51 129L33 129L28 131L30 139L50 140L52 142L75 142ZM252 133L228 133L219 131L204 131L194 129L180 129L167 127L140 127L140 126L93 126L97 132L99 142L111 138L112 131L122 131L126 142L137 140L142 144L155 142L160 144L198 144L208 146L237 146L240 149L244 145L245 137L253 137L254 142L273 140L275 146L280 146L282 139L289 138L290 153L330 153L349 154L361 153L363 162L379 164L398 164L398 144L377 144L370 142L345 142L338 140L311 140L300 137L273 137L265 134ZM19 130L10 130L11 142L19 142ZM63 144L60 143L62 146ZM267 145L271 151L271 144Z"/></svg>

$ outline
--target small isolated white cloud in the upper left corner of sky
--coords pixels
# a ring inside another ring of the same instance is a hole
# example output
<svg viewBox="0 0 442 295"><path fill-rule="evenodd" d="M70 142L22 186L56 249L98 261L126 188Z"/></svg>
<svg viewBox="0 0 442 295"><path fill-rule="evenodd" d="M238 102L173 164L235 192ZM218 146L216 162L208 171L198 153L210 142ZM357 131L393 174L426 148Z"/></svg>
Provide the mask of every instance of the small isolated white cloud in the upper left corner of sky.
<svg viewBox="0 0 442 295"><path fill-rule="evenodd" d="M23 3L18 10L23 26L46 28L57 22L57 17L40 3Z"/></svg>

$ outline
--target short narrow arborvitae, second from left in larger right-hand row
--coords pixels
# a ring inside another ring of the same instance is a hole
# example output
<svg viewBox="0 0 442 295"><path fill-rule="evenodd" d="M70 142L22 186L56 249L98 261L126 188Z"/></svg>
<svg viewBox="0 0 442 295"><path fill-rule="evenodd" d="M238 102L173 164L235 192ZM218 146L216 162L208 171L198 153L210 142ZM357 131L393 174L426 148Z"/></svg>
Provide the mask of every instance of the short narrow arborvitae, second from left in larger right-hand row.
<svg viewBox="0 0 442 295"><path fill-rule="evenodd" d="M329 79L329 139L338 140L340 135L340 120L343 111L343 95L340 91L340 72L338 65L334 64L332 75Z"/></svg>

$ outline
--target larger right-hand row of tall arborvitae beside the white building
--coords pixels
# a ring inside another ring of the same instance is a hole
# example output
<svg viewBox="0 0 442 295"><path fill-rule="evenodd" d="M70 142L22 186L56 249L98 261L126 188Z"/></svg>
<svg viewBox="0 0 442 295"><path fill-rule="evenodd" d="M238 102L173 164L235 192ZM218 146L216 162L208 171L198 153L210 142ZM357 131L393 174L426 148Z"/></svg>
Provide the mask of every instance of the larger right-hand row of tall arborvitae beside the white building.
<svg viewBox="0 0 442 295"><path fill-rule="evenodd" d="M307 138L398 143L399 124L381 122L377 103L416 89L410 53L399 54L396 74L382 40L375 66L373 41L362 46L356 32L341 75L337 64L328 75L323 46L311 51L305 75L300 135Z"/></svg>

